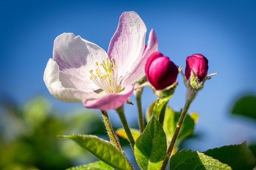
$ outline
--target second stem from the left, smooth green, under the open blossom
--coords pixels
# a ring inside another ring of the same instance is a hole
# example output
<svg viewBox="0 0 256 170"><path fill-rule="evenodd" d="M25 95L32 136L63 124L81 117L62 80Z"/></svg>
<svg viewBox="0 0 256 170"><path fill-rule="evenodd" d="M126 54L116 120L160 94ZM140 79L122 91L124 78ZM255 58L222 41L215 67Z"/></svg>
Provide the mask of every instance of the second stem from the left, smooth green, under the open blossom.
<svg viewBox="0 0 256 170"><path fill-rule="evenodd" d="M121 107L118 107L116 109L116 113L118 113L118 116L119 116L119 118L121 120L121 123L122 123L122 125L124 127L124 131L125 131L125 133L126 133L126 135L128 137L128 141L130 142L130 145L132 146L132 150L134 150L135 141L134 141L134 139L132 137L132 133L131 133L130 127L129 127L129 125L127 123L127 120L126 120L126 117L124 115L124 105L122 105Z"/></svg>

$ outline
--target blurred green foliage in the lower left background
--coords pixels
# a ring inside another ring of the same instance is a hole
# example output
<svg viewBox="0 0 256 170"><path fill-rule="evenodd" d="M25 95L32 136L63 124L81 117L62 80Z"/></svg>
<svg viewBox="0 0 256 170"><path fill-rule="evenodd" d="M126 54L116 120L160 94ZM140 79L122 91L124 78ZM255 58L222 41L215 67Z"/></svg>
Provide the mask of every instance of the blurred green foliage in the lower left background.
<svg viewBox="0 0 256 170"><path fill-rule="evenodd" d="M64 170L96 160L74 142L57 137L73 133L106 138L100 114L92 110L59 113L40 96L24 107L5 98L0 102L0 169Z"/></svg>

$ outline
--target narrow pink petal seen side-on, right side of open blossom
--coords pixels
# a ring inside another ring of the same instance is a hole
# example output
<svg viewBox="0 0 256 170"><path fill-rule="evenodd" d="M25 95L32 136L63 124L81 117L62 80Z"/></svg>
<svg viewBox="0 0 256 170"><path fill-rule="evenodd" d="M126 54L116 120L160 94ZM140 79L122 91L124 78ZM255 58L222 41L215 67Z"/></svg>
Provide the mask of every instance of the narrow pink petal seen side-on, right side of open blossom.
<svg viewBox="0 0 256 170"><path fill-rule="evenodd" d="M145 66L148 58L155 52L158 51L158 42L156 38L156 33L154 29L151 29L148 37L148 45L144 53L142 54L142 59L140 63L128 74L122 81L122 86L127 84L133 84L134 82L140 80L145 75Z"/></svg>

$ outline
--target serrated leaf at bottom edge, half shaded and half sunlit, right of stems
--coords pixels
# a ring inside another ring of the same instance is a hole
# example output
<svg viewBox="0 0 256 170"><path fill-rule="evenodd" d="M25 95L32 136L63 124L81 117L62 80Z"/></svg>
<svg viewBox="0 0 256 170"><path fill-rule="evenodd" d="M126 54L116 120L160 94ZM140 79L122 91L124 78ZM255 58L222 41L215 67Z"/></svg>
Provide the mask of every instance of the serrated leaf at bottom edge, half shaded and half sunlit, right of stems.
<svg viewBox="0 0 256 170"><path fill-rule="evenodd" d="M231 168L198 151L181 150L170 158L170 170L231 170Z"/></svg>

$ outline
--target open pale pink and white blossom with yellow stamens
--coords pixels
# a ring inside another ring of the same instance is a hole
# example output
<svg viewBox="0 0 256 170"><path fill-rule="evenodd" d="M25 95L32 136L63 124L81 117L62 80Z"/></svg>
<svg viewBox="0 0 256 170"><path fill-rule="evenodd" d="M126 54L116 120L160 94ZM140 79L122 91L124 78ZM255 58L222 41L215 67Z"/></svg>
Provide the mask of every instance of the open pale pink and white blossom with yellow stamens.
<svg viewBox="0 0 256 170"><path fill-rule="evenodd" d="M122 106L132 84L145 75L146 60L158 51L154 30L144 51L145 36L146 26L135 12L120 16L108 53L73 33L59 35L44 71L46 87L63 102L83 102L84 107L101 110Z"/></svg>

